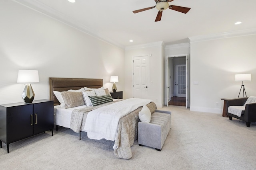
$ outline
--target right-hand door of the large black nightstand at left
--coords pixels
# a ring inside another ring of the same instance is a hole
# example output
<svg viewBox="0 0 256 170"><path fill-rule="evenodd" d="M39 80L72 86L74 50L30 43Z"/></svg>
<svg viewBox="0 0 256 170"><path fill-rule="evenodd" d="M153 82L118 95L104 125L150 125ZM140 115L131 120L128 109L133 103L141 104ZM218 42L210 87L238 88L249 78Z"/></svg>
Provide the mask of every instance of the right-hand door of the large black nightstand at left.
<svg viewBox="0 0 256 170"><path fill-rule="evenodd" d="M34 135L53 129L53 102L34 104Z"/></svg>

